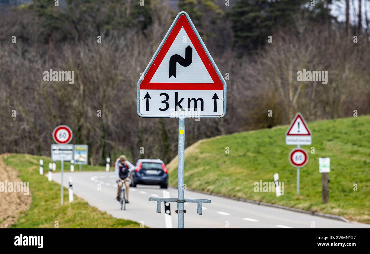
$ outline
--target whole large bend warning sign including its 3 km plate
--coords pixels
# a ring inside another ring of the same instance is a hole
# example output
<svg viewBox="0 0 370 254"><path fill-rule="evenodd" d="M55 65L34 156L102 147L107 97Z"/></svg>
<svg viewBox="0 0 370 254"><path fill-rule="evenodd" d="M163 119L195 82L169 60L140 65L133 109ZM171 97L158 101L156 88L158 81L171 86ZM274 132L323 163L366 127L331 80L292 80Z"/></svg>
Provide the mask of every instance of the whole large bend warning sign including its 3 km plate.
<svg viewBox="0 0 370 254"><path fill-rule="evenodd" d="M187 14L179 15L138 82L139 116L226 114L226 82Z"/></svg>

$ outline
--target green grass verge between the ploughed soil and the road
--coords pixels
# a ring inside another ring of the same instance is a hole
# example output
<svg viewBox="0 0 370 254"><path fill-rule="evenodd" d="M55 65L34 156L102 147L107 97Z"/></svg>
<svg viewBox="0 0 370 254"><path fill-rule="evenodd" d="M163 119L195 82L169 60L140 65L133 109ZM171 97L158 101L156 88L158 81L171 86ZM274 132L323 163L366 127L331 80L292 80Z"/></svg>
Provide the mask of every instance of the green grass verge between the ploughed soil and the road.
<svg viewBox="0 0 370 254"><path fill-rule="evenodd" d="M44 173L48 172L50 159L32 155L10 155L4 159L7 166L19 172L23 182L30 182L32 203L13 228L138 228L139 223L115 219L111 215L88 205L83 199L74 196L68 201L68 189L64 188L63 206L60 206L60 184L48 182L47 177L39 174L39 160L44 160ZM86 169L86 167L85 167ZM88 170L101 170L102 167L88 166ZM78 170L78 168L77 168ZM103 169L104 170L104 169ZM69 171L69 167L68 167ZM118 208L118 203L117 203Z"/></svg>

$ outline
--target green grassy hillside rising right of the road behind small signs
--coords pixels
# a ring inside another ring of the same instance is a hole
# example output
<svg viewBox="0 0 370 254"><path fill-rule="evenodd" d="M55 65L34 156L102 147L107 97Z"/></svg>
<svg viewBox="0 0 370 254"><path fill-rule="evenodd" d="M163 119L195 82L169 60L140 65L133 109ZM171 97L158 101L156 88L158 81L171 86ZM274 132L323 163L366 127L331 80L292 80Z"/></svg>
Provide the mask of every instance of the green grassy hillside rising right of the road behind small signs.
<svg viewBox="0 0 370 254"><path fill-rule="evenodd" d="M185 150L185 184L189 189L276 203L299 209L344 216L370 223L370 116L308 123L312 145L302 146L309 162L296 169L288 156L296 146L285 145L287 126L201 140ZM229 147L230 153L225 153ZM311 153L314 147L314 154ZM322 204L319 157L330 157L329 203ZM177 158L167 166L169 183L177 186ZM273 182L279 173L285 193L254 192L253 183ZM357 191L354 190L357 184Z"/></svg>

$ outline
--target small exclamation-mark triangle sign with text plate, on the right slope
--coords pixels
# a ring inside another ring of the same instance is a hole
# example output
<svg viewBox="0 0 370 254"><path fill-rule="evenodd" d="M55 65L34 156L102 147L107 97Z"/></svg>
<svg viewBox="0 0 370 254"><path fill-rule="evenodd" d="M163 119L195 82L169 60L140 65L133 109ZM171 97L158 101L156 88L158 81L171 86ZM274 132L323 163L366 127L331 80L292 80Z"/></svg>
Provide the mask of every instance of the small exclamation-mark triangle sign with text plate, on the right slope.
<svg viewBox="0 0 370 254"><path fill-rule="evenodd" d="M297 113L292 123L290 123L290 126L285 133L285 143L287 145L312 144L312 133L302 114Z"/></svg>

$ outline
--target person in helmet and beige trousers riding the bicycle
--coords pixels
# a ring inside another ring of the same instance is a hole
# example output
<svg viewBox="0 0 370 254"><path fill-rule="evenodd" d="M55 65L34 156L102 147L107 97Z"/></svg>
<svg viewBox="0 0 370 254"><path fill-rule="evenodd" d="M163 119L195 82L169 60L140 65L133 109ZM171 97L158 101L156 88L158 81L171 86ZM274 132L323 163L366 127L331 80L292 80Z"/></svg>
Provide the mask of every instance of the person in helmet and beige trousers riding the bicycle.
<svg viewBox="0 0 370 254"><path fill-rule="evenodd" d="M127 180L127 182L125 182L125 186L126 186L126 199L127 199L126 203L128 203L128 188L129 188L128 173L134 170L135 170L135 166L132 165L131 162L127 160L126 156L121 155L120 158L116 160L114 172L115 172L116 179L117 179L116 182L118 184L118 189L117 189L117 200L118 201L121 200L121 197L120 197L121 186L122 186L121 180Z"/></svg>

